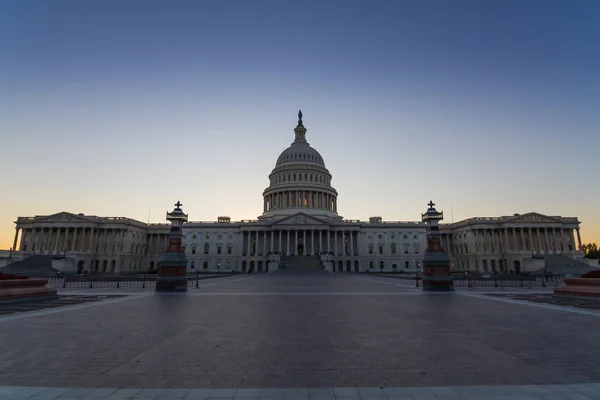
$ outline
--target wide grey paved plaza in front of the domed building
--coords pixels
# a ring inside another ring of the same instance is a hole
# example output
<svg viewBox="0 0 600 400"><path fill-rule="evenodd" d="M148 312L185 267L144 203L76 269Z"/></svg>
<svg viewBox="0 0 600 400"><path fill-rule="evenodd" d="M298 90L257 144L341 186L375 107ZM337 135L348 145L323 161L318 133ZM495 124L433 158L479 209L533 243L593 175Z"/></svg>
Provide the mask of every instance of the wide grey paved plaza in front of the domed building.
<svg viewBox="0 0 600 400"><path fill-rule="evenodd" d="M257 274L186 294L71 290L128 296L0 316L0 399L600 399L600 311L413 285Z"/></svg>

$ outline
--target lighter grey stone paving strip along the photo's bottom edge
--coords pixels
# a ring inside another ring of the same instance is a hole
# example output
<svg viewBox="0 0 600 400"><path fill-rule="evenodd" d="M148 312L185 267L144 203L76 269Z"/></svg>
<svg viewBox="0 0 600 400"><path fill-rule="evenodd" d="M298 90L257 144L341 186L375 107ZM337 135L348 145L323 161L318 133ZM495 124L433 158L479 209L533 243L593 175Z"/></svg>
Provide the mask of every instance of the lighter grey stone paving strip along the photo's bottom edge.
<svg viewBox="0 0 600 400"><path fill-rule="evenodd" d="M600 400L600 383L574 385L262 389L0 387L6 400Z"/></svg>

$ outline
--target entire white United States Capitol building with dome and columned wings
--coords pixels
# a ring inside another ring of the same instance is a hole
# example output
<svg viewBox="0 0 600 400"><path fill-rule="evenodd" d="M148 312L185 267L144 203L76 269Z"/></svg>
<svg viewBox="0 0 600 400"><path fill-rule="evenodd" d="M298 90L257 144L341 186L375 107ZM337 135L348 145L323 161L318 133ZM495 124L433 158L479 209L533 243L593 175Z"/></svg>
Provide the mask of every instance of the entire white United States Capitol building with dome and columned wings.
<svg viewBox="0 0 600 400"><path fill-rule="evenodd" d="M425 224L338 215L332 174L298 117L293 143L269 174L262 215L184 225L188 270L267 272L298 264L336 272L418 270ZM429 199L423 200L425 208ZM454 271L534 272L583 264L579 224L576 217L531 212L469 218L440 230ZM69 212L19 217L11 257L52 255L62 269L78 272L145 272L156 268L169 226Z"/></svg>

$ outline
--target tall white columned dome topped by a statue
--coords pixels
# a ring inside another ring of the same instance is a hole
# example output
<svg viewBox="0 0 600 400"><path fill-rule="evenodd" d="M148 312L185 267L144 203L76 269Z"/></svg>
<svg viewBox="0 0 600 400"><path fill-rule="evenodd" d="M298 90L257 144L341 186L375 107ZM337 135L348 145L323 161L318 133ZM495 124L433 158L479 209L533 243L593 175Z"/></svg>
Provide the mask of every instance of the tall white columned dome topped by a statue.
<svg viewBox="0 0 600 400"><path fill-rule="evenodd" d="M340 219L337 191L321 154L306 141L302 111L294 129L294 142L277 158L263 192L264 210L259 218L285 217L299 212Z"/></svg>

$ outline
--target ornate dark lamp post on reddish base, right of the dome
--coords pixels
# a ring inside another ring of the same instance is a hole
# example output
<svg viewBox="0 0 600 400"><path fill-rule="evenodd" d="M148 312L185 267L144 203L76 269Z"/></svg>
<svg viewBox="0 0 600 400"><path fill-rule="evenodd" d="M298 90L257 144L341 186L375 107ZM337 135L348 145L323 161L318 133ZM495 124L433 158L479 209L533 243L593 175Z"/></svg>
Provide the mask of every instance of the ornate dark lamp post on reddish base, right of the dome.
<svg viewBox="0 0 600 400"><path fill-rule="evenodd" d="M444 213L434 208L433 201L429 201L427 205L427 212L421 214L421 220L427 223L427 248L423 255L423 290L452 291L454 282L450 275L450 257L442 247L438 225L444 219Z"/></svg>

